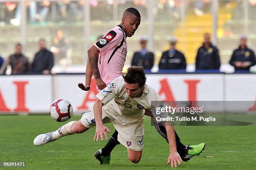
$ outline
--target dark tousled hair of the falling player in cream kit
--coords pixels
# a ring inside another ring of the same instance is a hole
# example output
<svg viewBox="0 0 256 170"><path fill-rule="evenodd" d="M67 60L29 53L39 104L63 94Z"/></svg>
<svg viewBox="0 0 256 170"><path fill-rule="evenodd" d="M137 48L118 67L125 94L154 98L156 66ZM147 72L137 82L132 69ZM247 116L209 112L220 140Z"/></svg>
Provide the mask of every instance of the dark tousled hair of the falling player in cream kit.
<svg viewBox="0 0 256 170"><path fill-rule="evenodd" d="M147 77L143 67L129 67L127 73L123 75L123 79L129 84L138 83L139 87L143 87Z"/></svg>

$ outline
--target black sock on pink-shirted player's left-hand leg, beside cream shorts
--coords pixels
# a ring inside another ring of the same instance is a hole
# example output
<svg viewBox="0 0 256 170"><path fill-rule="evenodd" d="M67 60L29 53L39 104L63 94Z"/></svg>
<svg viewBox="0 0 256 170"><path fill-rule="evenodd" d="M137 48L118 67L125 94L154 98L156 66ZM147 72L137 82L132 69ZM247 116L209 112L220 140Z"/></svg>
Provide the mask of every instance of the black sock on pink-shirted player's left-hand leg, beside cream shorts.
<svg viewBox="0 0 256 170"><path fill-rule="evenodd" d="M115 130L115 132L113 133L113 135L111 136L111 138L108 140L108 143L101 149L102 156L110 156L110 153L112 152L112 150L115 148L116 145L119 145L120 142L118 142L118 131Z"/></svg>

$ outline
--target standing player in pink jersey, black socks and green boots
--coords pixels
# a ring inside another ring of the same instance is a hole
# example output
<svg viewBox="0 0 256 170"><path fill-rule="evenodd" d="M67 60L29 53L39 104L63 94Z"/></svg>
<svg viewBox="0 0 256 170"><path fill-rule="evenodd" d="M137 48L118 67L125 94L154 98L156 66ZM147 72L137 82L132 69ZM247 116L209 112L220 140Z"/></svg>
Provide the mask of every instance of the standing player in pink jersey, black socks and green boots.
<svg viewBox="0 0 256 170"><path fill-rule="evenodd" d="M94 75L97 90L100 91L106 87L116 77L122 75L123 65L127 54L126 37L134 35L141 22L141 15L133 7L125 10L120 25L107 31L100 40L98 40L88 50L89 61L86 67L85 85L79 83L78 86L82 90L90 90L91 78ZM148 114L148 116L151 116ZM154 122L157 132L167 141L166 129L161 123ZM119 144L118 131L111 136L105 147L95 153L101 164L109 164L110 153ZM183 161L189 160L192 156L199 155L205 144L193 145L193 148L183 145L177 133L175 132L177 150ZM197 150L195 152L195 150ZM191 153L192 152L192 153ZM190 153L190 154L189 154Z"/></svg>

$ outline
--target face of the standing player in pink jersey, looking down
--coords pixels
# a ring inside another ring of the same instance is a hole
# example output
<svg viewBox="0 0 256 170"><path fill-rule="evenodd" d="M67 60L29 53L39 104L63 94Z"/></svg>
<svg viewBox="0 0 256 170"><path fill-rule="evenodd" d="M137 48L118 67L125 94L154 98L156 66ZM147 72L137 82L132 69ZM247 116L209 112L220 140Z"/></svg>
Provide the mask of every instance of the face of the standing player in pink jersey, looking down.
<svg viewBox="0 0 256 170"><path fill-rule="evenodd" d="M128 14L127 16L122 18L123 22L123 30L127 37L131 37L134 35L135 31L137 30L138 26L141 24L141 18L137 17L133 14Z"/></svg>

